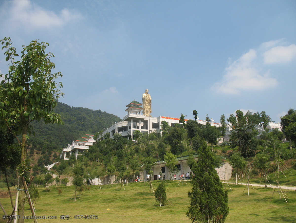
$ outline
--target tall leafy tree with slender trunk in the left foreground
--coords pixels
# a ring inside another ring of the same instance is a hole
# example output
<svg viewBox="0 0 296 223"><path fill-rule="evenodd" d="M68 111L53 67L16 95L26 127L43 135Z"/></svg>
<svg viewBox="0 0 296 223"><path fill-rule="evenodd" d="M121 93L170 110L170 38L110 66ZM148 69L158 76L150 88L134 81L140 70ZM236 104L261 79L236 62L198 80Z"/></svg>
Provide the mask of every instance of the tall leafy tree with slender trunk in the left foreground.
<svg viewBox="0 0 296 223"><path fill-rule="evenodd" d="M11 39L4 38L1 41L7 51L6 61L9 61L8 74L1 74L3 79L0 85L0 126L9 129L17 136L21 134L19 143L22 146L21 165L19 169L26 169L27 138L32 133L31 122L44 120L48 123L61 123L60 115L54 113L57 105L56 99L63 95L60 92L62 83L55 80L62 77L60 72L53 73L54 63L50 58L54 55L46 53L49 46L45 42L30 42L22 49L20 60L15 47L12 47ZM22 179L22 175L20 176ZM20 188L22 188L20 180ZM24 216L25 193L19 194L19 215ZM21 217L20 222L23 222Z"/></svg>

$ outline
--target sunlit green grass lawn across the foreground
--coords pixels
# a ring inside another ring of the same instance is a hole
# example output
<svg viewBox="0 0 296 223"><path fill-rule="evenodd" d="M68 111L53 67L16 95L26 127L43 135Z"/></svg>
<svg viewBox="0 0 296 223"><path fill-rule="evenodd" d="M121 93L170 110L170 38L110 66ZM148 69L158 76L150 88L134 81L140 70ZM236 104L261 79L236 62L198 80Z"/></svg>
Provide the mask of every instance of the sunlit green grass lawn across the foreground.
<svg viewBox="0 0 296 223"><path fill-rule="evenodd" d="M50 187L51 191L46 192L45 188L39 188L40 199L36 202L36 216L57 216L57 219L38 219L38 222L191 222L186 217L189 205L188 191L191 184L179 184L179 181L167 181L165 184L168 200L173 204L166 203L159 207L155 204L153 192L149 192L149 186L145 189L144 183L132 183L120 189L120 186L109 185L90 186L89 191L83 191L80 199L74 201L75 187ZM153 181L154 189L159 182ZM147 184L146 184L147 185ZM288 204L284 199L279 198L271 188L257 188L256 193L245 186L231 185L229 193L229 215L226 222L296 222L296 192L284 190L289 197ZM62 193L58 195L58 188ZM1 189L1 191L6 191ZM144 192L143 192L144 191ZM1 196L0 201L7 212L11 211L9 197ZM155 205L154 205L155 204ZM107 210L110 209L110 210ZM1 213L3 214L3 213ZM30 216L27 204L25 215ZM69 215L70 219L61 220L61 215ZM97 215L98 219L74 219L75 215ZM1 220L0 222L6 222ZM25 220L33 222L33 220Z"/></svg>

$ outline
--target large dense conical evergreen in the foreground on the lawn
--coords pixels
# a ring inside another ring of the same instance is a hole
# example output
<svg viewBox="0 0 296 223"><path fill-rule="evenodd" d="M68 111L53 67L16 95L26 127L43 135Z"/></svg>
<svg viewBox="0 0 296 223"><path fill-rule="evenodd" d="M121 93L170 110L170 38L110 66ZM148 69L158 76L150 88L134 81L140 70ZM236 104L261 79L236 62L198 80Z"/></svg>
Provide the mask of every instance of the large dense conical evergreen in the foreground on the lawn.
<svg viewBox="0 0 296 223"><path fill-rule="evenodd" d="M192 222L223 223L229 213L227 191L215 170L215 158L207 147L199 149L198 163L192 165L192 191L186 216Z"/></svg>

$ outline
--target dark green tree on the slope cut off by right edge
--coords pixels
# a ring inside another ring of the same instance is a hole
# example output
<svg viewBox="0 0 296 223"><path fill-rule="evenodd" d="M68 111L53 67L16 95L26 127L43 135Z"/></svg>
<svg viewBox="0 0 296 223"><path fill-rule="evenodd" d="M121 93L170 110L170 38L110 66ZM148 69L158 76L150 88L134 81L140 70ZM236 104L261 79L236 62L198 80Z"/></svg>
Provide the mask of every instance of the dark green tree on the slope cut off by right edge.
<svg viewBox="0 0 296 223"><path fill-rule="evenodd" d="M296 143L296 110L289 109L288 114L281 117L282 131L290 140L290 149L292 149L292 141Z"/></svg>

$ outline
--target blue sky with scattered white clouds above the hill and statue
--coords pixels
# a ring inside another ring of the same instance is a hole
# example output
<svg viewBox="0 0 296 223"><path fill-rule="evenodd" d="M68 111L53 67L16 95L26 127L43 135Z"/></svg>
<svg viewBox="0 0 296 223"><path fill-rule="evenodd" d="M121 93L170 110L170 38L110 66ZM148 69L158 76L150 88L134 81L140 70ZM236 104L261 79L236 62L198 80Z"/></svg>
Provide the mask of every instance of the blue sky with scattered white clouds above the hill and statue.
<svg viewBox="0 0 296 223"><path fill-rule="evenodd" d="M149 89L153 117L220 122L241 109L279 122L296 108L293 0L15 0L0 2L0 19L19 53L50 44L70 106L123 118Z"/></svg>

